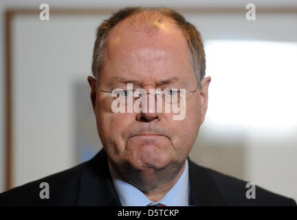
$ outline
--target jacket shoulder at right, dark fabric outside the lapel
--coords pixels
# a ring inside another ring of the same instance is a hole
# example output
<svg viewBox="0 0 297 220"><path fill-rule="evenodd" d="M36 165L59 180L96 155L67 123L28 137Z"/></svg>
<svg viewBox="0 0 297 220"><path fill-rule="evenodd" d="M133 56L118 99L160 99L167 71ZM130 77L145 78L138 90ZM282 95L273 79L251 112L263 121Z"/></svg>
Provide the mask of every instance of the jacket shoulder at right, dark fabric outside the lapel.
<svg viewBox="0 0 297 220"><path fill-rule="evenodd" d="M252 184L248 184L249 181L244 181L195 163L192 166L195 169L203 169L208 173L219 192L221 192L227 206L296 206L294 199L265 190L252 182L250 182ZM253 188L254 192L252 192ZM254 197L249 197L249 195L254 195Z"/></svg>

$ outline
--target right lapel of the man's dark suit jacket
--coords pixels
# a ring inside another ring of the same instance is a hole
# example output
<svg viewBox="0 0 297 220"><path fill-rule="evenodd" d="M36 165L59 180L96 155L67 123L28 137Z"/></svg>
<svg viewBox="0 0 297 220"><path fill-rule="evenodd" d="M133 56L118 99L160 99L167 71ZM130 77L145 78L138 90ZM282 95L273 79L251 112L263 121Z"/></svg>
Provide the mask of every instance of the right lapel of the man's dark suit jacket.
<svg viewBox="0 0 297 220"><path fill-rule="evenodd" d="M221 192L206 168L188 158L190 178L190 206L225 206Z"/></svg>

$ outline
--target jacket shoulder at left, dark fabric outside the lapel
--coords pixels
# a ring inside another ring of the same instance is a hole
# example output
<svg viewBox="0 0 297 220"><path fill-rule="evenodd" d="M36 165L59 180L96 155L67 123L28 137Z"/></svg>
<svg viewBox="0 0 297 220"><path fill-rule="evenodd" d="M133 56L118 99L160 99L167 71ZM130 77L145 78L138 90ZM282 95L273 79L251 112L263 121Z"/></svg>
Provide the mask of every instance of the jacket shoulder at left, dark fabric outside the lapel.
<svg viewBox="0 0 297 220"><path fill-rule="evenodd" d="M0 206L75 206L80 172L86 163L3 192ZM48 184L49 199L40 197L43 182Z"/></svg>

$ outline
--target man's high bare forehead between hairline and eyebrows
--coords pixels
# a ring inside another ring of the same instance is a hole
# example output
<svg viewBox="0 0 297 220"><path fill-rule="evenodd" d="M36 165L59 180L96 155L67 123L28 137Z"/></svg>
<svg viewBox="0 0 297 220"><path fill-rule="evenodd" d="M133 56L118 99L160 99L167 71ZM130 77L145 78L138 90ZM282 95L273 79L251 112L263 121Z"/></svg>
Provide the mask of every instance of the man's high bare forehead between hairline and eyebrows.
<svg viewBox="0 0 297 220"><path fill-rule="evenodd" d="M194 76L186 37L172 23L148 32L146 27L135 28L123 21L109 33L106 52L102 76L107 79L124 76L159 81L175 77L184 81Z"/></svg>

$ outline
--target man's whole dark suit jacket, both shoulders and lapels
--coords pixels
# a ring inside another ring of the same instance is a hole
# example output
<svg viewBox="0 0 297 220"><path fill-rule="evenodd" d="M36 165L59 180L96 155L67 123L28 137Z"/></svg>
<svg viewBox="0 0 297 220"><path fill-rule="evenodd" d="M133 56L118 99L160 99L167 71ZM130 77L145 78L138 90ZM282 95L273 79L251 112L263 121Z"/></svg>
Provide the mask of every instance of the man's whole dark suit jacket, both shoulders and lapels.
<svg viewBox="0 0 297 220"><path fill-rule="evenodd" d="M246 182L198 166L189 159L192 206L296 206L293 199L256 186L256 199L247 199ZM50 185L50 199L40 199L41 182ZM0 194L0 206L121 206L115 191L107 155L94 158L43 179Z"/></svg>

